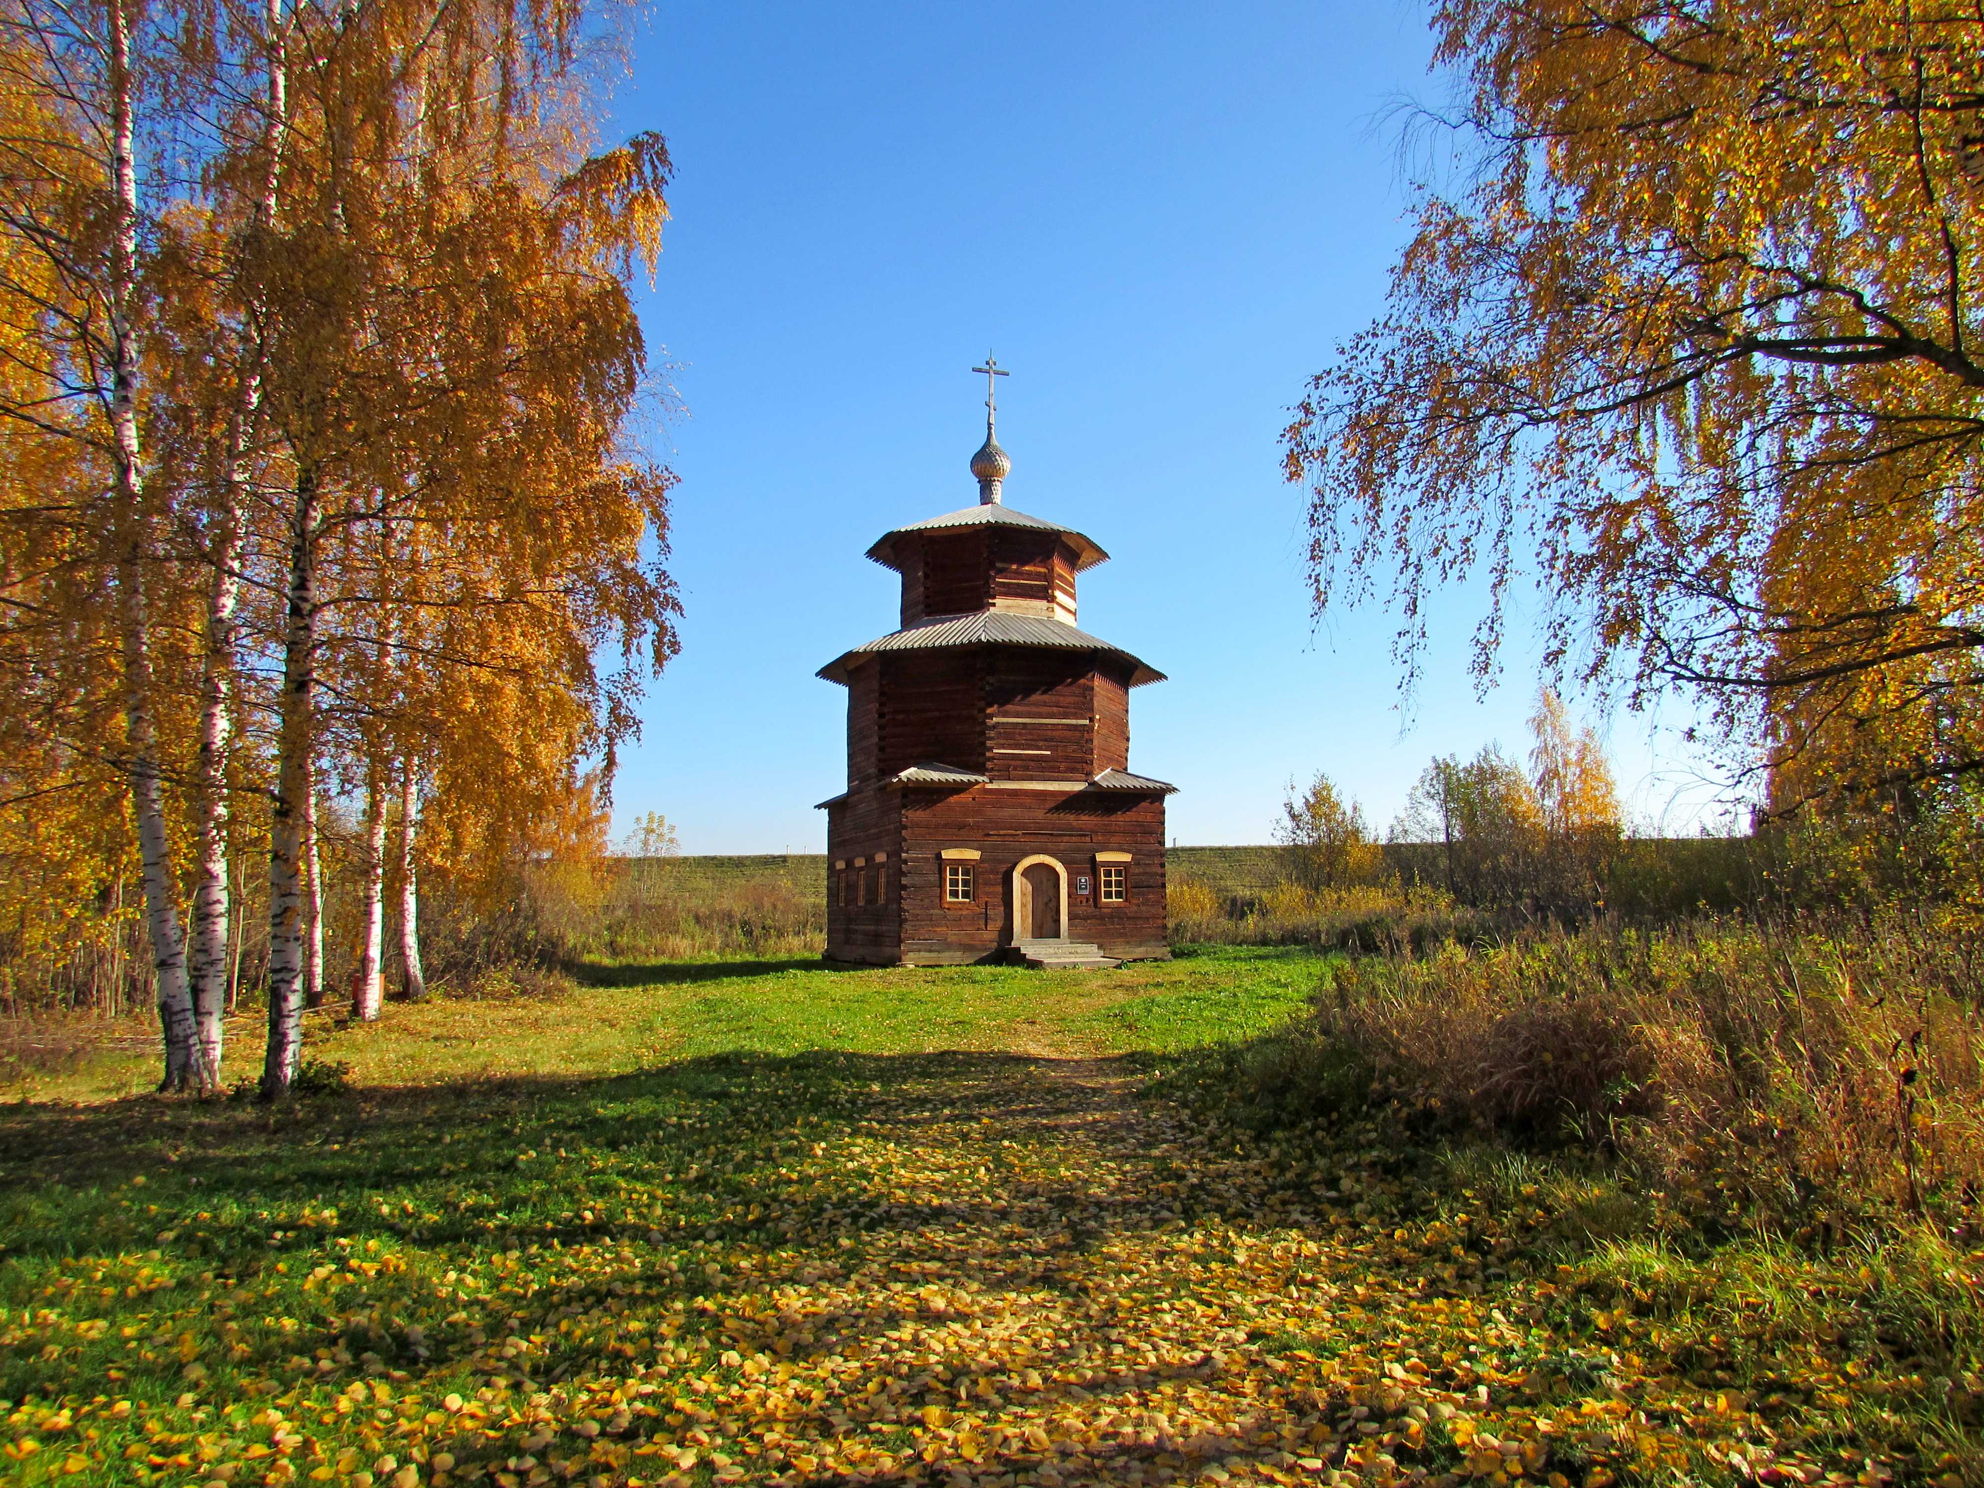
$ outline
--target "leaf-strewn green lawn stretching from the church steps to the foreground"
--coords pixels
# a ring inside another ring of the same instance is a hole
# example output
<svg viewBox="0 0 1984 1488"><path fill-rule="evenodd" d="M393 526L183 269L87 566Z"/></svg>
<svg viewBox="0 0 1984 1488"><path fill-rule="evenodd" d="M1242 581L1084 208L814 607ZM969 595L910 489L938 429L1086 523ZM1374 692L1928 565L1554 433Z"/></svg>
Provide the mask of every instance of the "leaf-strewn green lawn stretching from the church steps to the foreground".
<svg viewBox="0 0 1984 1488"><path fill-rule="evenodd" d="M599 966L325 1022L278 1109L85 1063L0 1107L0 1478L1960 1480L1790 1272L1579 1270L1540 1171L1153 1087L1325 974Z"/></svg>

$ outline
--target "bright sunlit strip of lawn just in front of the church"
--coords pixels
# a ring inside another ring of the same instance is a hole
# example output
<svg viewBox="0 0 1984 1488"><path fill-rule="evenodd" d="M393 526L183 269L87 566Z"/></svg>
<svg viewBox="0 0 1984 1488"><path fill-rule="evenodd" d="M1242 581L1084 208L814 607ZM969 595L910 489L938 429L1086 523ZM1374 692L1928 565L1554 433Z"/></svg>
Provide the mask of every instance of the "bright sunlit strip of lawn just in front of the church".
<svg viewBox="0 0 1984 1488"><path fill-rule="evenodd" d="M819 960L591 966L569 994L387 1004L373 1026L310 1014L306 1057L363 1087L478 1075L629 1073L706 1054L857 1050L1175 1052L1246 1038L1311 996L1325 962L1302 950L1218 948L1105 976L1000 966L847 970ZM260 1071L260 1010L228 1020L226 1081ZM16 1071L12 1099L99 1101L157 1079L143 1030L83 1067Z"/></svg>

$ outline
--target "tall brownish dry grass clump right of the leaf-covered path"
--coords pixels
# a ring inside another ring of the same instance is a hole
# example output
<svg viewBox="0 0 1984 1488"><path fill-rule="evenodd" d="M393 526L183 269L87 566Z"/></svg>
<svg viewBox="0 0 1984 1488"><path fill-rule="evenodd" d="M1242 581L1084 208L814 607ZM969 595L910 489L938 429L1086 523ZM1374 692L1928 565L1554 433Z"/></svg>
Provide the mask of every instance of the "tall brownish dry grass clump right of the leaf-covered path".
<svg viewBox="0 0 1984 1488"><path fill-rule="evenodd" d="M1625 1159L1694 1222L1968 1226L1984 1030L1962 946L1907 925L1536 932L1341 966L1264 1052L1272 1099Z"/></svg>

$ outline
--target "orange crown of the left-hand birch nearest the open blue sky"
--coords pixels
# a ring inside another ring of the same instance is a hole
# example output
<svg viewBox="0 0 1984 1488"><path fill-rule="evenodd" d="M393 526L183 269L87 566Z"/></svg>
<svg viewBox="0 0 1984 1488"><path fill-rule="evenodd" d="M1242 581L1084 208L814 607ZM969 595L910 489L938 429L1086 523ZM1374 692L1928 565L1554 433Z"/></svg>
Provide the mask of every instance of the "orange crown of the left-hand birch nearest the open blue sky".
<svg viewBox="0 0 1984 1488"><path fill-rule="evenodd" d="M379 67L381 95L409 52L427 58L431 10L375 14L377 48L351 65ZM306 71L300 119L343 117L365 143L298 149L286 194L333 192L337 210L284 224L268 266L288 327L272 484L311 460L325 490L327 742L417 760L423 857L482 887L514 885L538 833L603 790L587 762L611 768L633 732L679 611L661 567L671 476L627 448L645 375L629 278L661 246L669 157L651 135L593 149L595 99L559 71L556 14L536 85L506 93L504 14L442 16L482 48L466 71L486 87L427 63L413 113Z"/></svg>

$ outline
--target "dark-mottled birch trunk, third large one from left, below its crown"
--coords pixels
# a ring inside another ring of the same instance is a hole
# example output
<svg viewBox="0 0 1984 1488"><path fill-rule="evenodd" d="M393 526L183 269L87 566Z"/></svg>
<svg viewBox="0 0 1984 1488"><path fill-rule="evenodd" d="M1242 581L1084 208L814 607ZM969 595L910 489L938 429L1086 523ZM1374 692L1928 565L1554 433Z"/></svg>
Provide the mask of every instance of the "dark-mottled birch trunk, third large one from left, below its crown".
<svg viewBox="0 0 1984 1488"><path fill-rule="evenodd" d="M304 1054L304 815L310 811L317 682L317 480L306 464L290 514L290 607L282 647L282 728L268 849L268 1052L262 1099L290 1093Z"/></svg>

